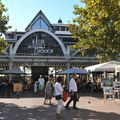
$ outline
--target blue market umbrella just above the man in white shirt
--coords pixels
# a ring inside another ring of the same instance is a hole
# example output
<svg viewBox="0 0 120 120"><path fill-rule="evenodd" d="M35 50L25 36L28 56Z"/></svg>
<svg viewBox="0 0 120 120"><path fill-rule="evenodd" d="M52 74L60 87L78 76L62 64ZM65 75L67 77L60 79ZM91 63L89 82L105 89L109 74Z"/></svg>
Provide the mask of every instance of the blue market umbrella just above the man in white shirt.
<svg viewBox="0 0 120 120"><path fill-rule="evenodd" d="M78 68L68 68L63 71L59 71L56 74L58 75L64 75L64 74L88 74L88 72L84 69L78 69Z"/></svg>

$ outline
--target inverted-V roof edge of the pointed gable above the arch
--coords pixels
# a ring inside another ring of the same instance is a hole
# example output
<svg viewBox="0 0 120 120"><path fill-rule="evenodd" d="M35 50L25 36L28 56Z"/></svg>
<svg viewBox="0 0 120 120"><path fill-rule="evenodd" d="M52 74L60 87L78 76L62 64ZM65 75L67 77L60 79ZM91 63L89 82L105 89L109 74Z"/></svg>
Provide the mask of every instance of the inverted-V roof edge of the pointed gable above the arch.
<svg viewBox="0 0 120 120"><path fill-rule="evenodd" d="M42 10L40 10L38 12L38 14L32 19L32 21L29 23L29 25L25 28L25 30L27 28L29 28L31 26L31 24L33 24L38 18L42 18L49 26L51 25L50 21L47 19L47 17L44 15L44 13L42 12Z"/></svg>

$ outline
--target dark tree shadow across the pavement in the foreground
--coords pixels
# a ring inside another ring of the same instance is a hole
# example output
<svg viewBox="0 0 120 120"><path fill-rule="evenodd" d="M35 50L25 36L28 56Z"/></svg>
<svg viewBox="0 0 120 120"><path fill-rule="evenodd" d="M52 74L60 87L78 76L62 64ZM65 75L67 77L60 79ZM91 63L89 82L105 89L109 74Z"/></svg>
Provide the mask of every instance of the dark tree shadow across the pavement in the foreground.
<svg viewBox="0 0 120 120"><path fill-rule="evenodd" d="M0 103L0 120L55 120L56 106L19 107ZM63 120L119 120L116 113L96 112L87 109L63 110Z"/></svg>

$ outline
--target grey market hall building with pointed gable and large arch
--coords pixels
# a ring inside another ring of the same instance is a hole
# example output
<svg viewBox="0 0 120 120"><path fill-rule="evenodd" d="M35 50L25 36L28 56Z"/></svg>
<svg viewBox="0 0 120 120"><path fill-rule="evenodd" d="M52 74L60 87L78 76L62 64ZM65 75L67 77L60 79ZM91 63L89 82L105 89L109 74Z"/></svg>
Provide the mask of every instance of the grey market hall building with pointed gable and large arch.
<svg viewBox="0 0 120 120"><path fill-rule="evenodd" d="M31 69L31 76L36 80L39 75L48 75L49 68L86 67L98 63L94 54L81 57L79 51L71 49L76 41L68 31L68 24L51 24L40 10L25 28L25 32L8 31L6 54L0 56L0 69L23 66Z"/></svg>

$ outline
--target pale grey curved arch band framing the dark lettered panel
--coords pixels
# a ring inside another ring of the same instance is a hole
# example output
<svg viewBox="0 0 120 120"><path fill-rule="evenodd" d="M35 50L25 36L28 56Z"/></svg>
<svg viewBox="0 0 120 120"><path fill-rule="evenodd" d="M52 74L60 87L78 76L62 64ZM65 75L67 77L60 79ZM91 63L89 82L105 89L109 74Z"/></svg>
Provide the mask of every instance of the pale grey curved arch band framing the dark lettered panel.
<svg viewBox="0 0 120 120"><path fill-rule="evenodd" d="M66 50L64 44L60 41L60 39L59 39L56 35L54 35L52 32L46 31L46 30L43 30L43 29L31 30L30 32L28 32L28 33L26 33L25 35L23 35L23 36L16 42L16 44L15 44L13 50L12 50L12 54L15 55L15 54L16 54L16 51L17 51L17 49L18 49L18 47L19 47L19 45L21 44L21 42L22 42L26 37L28 37L30 34L35 33L35 32L45 32L45 33L51 35L51 36L59 43L60 47L62 48L63 54L64 54L64 55L68 55L67 50Z"/></svg>

